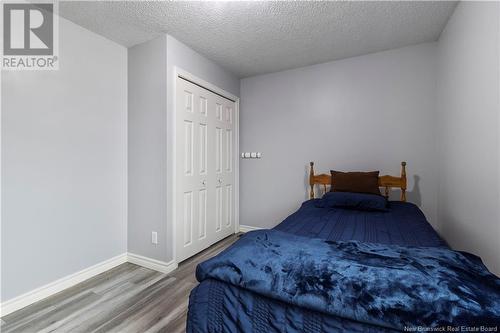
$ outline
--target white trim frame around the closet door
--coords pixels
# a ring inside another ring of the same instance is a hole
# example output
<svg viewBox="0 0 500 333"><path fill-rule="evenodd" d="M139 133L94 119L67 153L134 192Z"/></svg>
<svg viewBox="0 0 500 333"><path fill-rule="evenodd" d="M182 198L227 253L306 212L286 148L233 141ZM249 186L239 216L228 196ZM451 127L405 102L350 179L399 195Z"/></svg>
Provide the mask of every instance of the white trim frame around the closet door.
<svg viewBox="0 0 500 333"><path fill-rule="evenodd" d="M234 219L235 219L235 225L234 225L234 232L238 233L240 230L240 98L225 91L224 89L221 89L217 87L216 85L207 82L203 79L200 79L199 77L189 73L188 71L183 70L182 68L179 68L177 66L174 66L173 70L173 78L172 78L172 84L173 84L173 90L172 91L172 103L170 104L173 108L171 110L171 123L172 125L170 127L171 134L170 134L170 152L171 152L171 161L173 162L171 165L171 171L170 171L170 176L172 177L172 190L171 190L171 198L170 198L170 203L171 203L171 209L172 209L172 240L173 240L173 262L175 264L178 264L177 261L177 198L176 198L176 193L177 193L177 179L176 179L176 156L177 156L177 78L183 78L188 81L191 81L205 89L211 90L212 92L219 94L227 99L230 99L234 101L235 103L235 110L234 110L234 119L235 119L235 154L234 154ZM167 221L168 222L168 221Z"/></svg>

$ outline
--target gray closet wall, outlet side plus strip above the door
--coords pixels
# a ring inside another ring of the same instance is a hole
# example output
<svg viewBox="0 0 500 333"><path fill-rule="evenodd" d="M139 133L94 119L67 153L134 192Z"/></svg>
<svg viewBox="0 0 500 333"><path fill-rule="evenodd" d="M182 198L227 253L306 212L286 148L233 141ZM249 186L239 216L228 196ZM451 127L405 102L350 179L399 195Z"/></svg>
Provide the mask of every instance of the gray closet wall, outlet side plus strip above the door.
<svg viewBox="0 0 500 333"><path fill-rule="evenodd" d="M239 79L169 35L129 49L129 251L173 259L174 67L239 95ZM158 245L151 244L151 231Z"/></svg>

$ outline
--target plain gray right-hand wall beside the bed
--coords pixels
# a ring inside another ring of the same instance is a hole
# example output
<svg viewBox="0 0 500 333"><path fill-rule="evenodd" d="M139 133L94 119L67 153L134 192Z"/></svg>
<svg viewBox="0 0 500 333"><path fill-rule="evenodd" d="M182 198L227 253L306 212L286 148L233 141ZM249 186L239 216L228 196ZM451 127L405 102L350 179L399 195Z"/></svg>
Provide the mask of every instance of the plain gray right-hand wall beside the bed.
<svg viewBox="0 0 500 333"><path fill-rule="evenodd" d="M460 2L438 47L439 219L500 274L499 3Z"/></svg>

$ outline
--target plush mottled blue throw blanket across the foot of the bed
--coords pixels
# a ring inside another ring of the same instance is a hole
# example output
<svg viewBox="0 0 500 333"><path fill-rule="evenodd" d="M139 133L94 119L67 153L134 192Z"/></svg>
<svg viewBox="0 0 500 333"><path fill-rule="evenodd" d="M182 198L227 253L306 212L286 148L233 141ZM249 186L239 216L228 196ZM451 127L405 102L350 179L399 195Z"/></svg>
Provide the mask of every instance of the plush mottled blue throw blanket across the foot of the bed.
<svg viewBox="0 0 500 333"><path fill-rule="evenodd" d="M305 309L404 329L500 325L500 279L446 248L247 233L197 267L216 279Z"/></svg>

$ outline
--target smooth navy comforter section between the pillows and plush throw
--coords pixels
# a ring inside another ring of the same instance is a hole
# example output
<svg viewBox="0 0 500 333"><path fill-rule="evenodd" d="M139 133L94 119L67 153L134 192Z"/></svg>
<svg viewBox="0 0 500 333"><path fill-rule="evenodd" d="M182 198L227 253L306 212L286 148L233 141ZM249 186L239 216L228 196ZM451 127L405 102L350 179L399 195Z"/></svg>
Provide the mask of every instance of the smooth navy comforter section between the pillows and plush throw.
<svg viewBox="0 0 500 333"><path fill-rule="evenodd" d="M388 212L367 212L321 208L321 200L305 201L274 230L331 241L447 247L424 213L412 203L390 201Z"/></svg>

